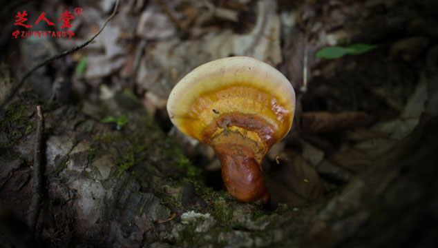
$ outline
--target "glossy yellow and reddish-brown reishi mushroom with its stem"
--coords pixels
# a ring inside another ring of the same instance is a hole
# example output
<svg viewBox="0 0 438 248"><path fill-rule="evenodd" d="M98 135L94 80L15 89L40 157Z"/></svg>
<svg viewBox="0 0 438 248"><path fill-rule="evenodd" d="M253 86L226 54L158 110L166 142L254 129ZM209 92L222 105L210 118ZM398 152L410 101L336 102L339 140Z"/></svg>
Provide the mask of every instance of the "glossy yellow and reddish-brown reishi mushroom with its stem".
<svg viewBox="0 0 438 248"><path fill-rule="evenodd" d="M269 201L263 157L289 132L294 110L286 77L247 56L200 65L173 87L167 102L173 125L213 147L227 191L241 202Z"/></svg>

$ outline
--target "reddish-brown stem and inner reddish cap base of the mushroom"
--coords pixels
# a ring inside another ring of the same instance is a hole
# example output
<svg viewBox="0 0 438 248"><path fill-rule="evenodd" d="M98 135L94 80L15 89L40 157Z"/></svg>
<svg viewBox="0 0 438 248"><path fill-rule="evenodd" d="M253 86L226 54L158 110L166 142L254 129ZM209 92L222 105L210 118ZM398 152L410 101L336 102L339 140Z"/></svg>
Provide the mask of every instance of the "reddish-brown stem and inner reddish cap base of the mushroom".
<svg viewBox="0 0 438 248"><path fill-rule="evenodd" d="M261 163L276 143L274 127L250 114L221 114L204 130L204 138L222 164L222 178L229 194L241 202L263 199L266 204L270 197Z"/></svg>

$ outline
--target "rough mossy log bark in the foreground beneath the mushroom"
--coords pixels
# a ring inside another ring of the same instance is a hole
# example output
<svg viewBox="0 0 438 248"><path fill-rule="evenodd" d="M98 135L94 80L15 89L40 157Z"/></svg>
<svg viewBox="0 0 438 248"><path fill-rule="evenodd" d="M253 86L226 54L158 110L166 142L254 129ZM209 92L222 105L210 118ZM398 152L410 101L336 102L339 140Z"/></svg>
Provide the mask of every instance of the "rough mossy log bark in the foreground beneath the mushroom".
<svg viewBox="0 0 438 248"><path fill-rule="evenodd" d="M9 147L1 147L1 207L18 219L26 216L32 185L28 165L36 133L35 108L28 103L32 100L13 102L2 118L13 120L1 134L10 141L2 142ZM120 107L122 103L125 108ZM41 246L437 244L437 118L424 121L390 156L376 158L372 167L320 203L271 211L260 203L238 203L222 190L205 187L198 168L135 105L135 100L119 94L106 105L84 104L82 111L43 106L47 139L46 194L37 223ZM102 117L124 114L129 121L117 127L84 112ZM196 194L187 181L195 185ZM2 243L17 245L12 234L25 229L12 228L11 215L2 212Z"/></svg>

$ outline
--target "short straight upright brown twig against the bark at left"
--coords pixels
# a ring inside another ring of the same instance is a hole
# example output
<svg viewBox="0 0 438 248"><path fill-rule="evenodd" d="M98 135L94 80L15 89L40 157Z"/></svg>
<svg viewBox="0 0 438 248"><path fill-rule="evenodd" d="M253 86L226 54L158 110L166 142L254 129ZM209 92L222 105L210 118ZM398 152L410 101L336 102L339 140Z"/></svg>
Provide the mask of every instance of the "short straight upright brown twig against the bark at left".
<svg viewBox="0 0 438 248"><path fill-rule="evenodd" d="M42 187L42 167L41 167L41 143L44 132L44 116L41 105L37 106L37 139L33 152L33 176L32 176L32 198L28 208L28 226L35 232L39 210L41 209L41 187Z"/></svg>

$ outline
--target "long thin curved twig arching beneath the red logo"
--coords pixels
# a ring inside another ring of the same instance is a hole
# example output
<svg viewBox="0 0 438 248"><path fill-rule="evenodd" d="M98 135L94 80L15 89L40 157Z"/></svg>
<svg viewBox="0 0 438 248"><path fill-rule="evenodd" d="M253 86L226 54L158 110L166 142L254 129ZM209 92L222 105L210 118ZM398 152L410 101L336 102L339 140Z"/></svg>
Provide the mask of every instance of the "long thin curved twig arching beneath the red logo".
<svg viewBox="0 0 438 248"><path fill-rule="evenodd" d="M111 21L111 19L113 19L113 17L115 16L115 14L117 12L118 6L119 6L119 0L117 0L115 2L115 7L113 10L113 13L108 17L108 19L106 19L104 25L102 25L102 28L100 28L100 30L93 37L91 37L91 39L89 39L88 41L85 41L84 43L82 43L80 45L77 45L75 48L70 48L68 50L65 50L64 52L61 52L59 54L55 54L54 56L51 56L50 58L38 63L32 69L30 69L28 72L26 72L26 74L24 74L23 78L21 78L21 80L18 83L15 83L15 85L13 85L12 88L6 94L5 98L3 99L3 103L1 103L1 105L0 105L0 112L1 112L1 110L3 110L3 107L5 107L5 105L10 101L10 99L12 99L12 96L14 96L15 92L17 92L21 88L21 86L23 86L26 79L28 79L28 77L33 72L35 72L35 70L37 70L38 68L40 68L43 65L46 65L52 61L55 61L56 59L61 59L62 57L67 56L68 54L76 52L77 50L82 49L86 45L91 43L91 41L93 41L97 37L97 35L99 35L102 32L102 30L104 30L106 23L108 23L109 21Z"/></svg>

